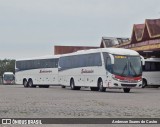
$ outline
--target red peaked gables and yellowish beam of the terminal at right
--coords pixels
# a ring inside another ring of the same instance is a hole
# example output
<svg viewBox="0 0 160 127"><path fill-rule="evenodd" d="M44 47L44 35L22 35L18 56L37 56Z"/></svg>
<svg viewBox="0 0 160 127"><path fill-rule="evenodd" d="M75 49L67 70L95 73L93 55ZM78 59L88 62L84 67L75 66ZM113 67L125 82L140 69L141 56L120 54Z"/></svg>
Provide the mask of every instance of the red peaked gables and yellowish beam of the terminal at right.
<svg viewBox="0 0 160 127"><path fill-rule="evenodd" d="M130 42L113 47L129 48L142 55L160 57L160 19L146 19L144 24L133 25Z"/></svg>

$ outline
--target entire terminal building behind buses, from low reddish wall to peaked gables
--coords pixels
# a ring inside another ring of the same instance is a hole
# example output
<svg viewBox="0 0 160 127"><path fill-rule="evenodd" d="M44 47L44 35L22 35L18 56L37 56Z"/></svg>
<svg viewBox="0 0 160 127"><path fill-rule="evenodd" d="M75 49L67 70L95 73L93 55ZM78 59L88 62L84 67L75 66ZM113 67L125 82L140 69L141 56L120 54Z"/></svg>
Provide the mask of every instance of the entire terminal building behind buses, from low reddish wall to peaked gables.
<svg viewBox="0 0 160 127"><path fill-rule="evenodd" d="M118 47L138 51L146 57L160 57L160 19L146 19L144 24L134 24L131 38L102 37L100 48ZM99 47L55 46L55 54L65 54L78 50Z"/></svg>

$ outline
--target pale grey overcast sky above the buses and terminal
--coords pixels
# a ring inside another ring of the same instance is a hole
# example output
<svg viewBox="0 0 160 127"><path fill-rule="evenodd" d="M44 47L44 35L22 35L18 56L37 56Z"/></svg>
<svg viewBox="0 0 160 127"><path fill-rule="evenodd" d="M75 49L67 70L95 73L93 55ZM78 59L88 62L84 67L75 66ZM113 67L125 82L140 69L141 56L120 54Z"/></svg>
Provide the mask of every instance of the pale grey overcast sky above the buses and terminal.
<svg viewBox="0 0 160 127"><path fill-rule="evenodd" d="M53 54L54 45L99 46L160 18L160 0L0 0L0 59Z"/></svg>

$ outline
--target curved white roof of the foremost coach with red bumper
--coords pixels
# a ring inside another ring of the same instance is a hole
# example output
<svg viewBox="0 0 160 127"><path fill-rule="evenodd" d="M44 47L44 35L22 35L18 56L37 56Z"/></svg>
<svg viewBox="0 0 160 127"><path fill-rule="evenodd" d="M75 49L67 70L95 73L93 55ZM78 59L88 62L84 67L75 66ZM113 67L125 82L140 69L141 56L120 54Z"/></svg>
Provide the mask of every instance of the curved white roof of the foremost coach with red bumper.
<svg viewBox="0 0 160 127"><path fill-rule="evenodd" d="M98 48L98 49L89 49L89 50L79 50L77 52L64 54L62 56L68 56L68 55L78 55L78 54L86 54L86 53L95 53L95 52L108 52L110 54L118 54L118 55L133 55L137 56L139 55L138 52L130 49L124 49L124 48Z"/></svg>

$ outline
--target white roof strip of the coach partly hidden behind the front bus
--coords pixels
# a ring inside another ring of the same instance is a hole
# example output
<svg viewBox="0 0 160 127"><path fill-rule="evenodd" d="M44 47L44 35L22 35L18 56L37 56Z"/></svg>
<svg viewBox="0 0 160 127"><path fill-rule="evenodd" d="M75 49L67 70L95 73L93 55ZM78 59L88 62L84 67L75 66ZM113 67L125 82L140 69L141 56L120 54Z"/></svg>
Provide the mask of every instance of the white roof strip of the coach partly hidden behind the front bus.
<svg viewBox="0 0 160 127"><path fill-rule="evenodd" d="M39 59L49 59L49 58L59 58L59 57L60 57L60 55L45 55L45 56L32 57L32 58L17 59L16 61L39 60Z"/></svg>

